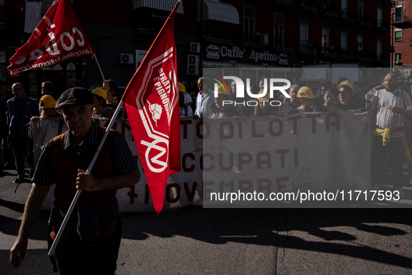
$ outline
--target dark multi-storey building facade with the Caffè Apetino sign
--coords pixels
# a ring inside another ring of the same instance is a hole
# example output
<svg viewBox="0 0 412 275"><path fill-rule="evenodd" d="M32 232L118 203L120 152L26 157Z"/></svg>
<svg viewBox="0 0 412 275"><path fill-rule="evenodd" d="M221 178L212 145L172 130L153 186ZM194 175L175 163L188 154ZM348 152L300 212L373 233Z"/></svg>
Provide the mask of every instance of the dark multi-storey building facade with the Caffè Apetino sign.
<svg viewBox="0 0 412 275"><path fill-rule="evenodd" d="M43 14L51 2L43 1ZM129 82L175 3L73 0L106 79L119 86ZM101 87L91 57L6 75L8 59L30 34L23 31L25 1L0 0L0 5L1 77L24 83L33 97L45 80L58 92ZM253 81L305 66L389 67L390 10L388 0L181 0L174 25L178 78L194 82L211 68L224 74L241 69Z"/></svg>

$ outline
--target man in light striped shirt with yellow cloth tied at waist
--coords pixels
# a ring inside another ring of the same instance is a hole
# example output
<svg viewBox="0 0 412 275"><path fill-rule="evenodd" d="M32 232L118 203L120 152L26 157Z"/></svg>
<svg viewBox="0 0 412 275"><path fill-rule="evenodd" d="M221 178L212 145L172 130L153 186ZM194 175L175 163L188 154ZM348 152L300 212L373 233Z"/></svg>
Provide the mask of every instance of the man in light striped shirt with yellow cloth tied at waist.
<svg viewBox="0 0 412 275"><path fill-rule="evenodd" d="M412 102L409 94L398 89L397 84L395 73L388 73L382 83L383 89L376 91L372 99L371 180L372 189L379 190L385 179L388 153L392 163L392 185L399 197L403 197L402 154L412 164L403 130L405 117L412 116Z"/></svg>

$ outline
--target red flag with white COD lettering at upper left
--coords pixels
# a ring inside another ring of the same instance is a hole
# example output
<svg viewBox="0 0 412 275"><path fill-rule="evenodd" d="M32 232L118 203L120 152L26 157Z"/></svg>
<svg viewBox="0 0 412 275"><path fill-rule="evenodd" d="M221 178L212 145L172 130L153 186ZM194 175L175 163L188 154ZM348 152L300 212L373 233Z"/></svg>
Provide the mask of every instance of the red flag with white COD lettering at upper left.
<svg viewBox="0 0 412 275"><path fill-rule="evenodd" d="M12 76L94 54L70 0L55 0L29 40L15 51L7 68Z"/></svg>

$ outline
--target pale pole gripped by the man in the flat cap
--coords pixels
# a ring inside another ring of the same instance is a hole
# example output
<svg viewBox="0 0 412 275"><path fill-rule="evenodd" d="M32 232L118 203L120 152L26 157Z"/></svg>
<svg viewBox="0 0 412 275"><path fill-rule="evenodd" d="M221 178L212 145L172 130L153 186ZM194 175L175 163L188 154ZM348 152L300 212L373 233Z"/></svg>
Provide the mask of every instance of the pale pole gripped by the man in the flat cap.
<svg viewBox="0 0 412 275"><path fill-rule="evenodd" d="M97 61L97 59L96 59ZM101 72L101 70L100 70ZM102 140L100 141L99 147L96 150L96 153L93 156L93 159L91 160L91 163L89 164L89 168L87 168L86 173L90 173L91 169L93 168L94 163L96 162L96 159L98 158L98 155L100 153L100 149L102 149L103 144L105 143L106 137L109 134L110 129L113 127L114 121L116 120L117 115L120 112L121 107L123 106L123 101L119 102L119 105L116 108L116 111L113 114L112 119L110 119L109 126L107 126L105 135L103 135ZM50 248L50 251L47 255L51 256L54 253L54 249L56 249L57 244L59 243L59 239L61 235L63 234L64 228L66 228L66 225L68 223L68 220L73 212L73 209L75 208L75 205L77 203L77 200L79 199L80 194L82 193L82 190L77 190L75 198L73 198L72 203L70 204L70 207L67 211L66 216L64 217L63 223L60 226L59 232L57 232L56 238L53 241L52 247Z"/></svg>

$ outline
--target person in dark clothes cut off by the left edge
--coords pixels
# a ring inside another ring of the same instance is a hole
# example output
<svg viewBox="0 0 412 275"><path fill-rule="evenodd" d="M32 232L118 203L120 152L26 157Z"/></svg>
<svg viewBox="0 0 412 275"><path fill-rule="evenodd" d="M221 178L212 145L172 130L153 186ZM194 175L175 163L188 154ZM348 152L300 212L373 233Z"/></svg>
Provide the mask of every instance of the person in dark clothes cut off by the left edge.
<svg viewBox="0 0 412 275"><path fill-rule="evenodd" d="M0 176L3 169L13 166L13 154L7 145L8 124L6 120L7 101L13 98L10 84L7 80L0 80ZM13 168L14 169L14 168Z"/></svg>

